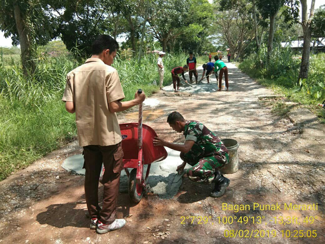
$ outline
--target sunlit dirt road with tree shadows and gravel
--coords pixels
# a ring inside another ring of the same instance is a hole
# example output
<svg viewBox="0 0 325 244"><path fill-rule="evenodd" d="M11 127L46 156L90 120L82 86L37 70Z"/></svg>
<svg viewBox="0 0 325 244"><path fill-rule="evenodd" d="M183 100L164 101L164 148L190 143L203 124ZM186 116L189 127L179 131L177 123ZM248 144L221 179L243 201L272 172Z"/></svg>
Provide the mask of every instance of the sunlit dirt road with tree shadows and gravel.
<svg viewBox="0 0 325 244"><path fill-rule="evenodd" d="M83 176L71 175L60 167L67 156L81 153L77 142L72 142L1 182L0 242L324 242L324 125L304 109L284 117L272 114L270 104L281 98L269 97L270 90L255 83L233 64L228 64L228 68L229 92L160 91L151 97L159 103L147 109L144 116L144 123L169 141L184 140L182 134L175 134L166 123L167 115L178 111L186 119L203 122L219 137L233 138L240 143L240 169L227 175L231 183L223 197L209 197L212 186L188 179L183 180L173 199L149 195L134 205L127 194L121 194L118 217L131 214L127 225L97 235L89 229ZM212 82L211 86L215 86L215 79ZM120 123L134 122L132 113L136 114L136 109L120 115ZM246 210L223 210L223 203L242 204ZM278 204L281 210L253 209L254 203ZM296 204L298 209L291 205L293 209L284 210L285 203ZM316 203L317 210L303 208ZM207 217L205 224L199 224L200 216ZM272 237L274 233L276 237ZM317 237L310 237L315 233ZM298 238L299 235L304 237Z"/></svg>

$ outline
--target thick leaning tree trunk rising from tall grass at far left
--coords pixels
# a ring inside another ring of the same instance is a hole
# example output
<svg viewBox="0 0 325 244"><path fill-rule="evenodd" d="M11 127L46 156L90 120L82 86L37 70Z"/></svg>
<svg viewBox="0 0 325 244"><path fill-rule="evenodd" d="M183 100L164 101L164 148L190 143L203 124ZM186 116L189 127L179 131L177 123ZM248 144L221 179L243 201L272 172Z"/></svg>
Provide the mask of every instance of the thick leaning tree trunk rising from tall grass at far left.
<svg viewBox="0 0 325 244"><path fill-rule="evenodd" d="M21 12L17 4L14 5L14 15L16 28L19 35L23 73L25 75L33 74L35 72L35 62L32 59L32 46L29 39L30 32L25 20L22 19Z"/></svg>

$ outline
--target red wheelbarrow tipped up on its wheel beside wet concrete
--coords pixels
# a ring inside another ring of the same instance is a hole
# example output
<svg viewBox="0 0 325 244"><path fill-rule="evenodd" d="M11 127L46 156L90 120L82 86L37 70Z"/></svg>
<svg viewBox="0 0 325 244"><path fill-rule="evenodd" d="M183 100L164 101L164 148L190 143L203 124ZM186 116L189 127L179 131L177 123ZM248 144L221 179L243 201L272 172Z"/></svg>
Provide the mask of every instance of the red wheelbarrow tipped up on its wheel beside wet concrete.
<svg viewBox="0 0 325 244"><path fill-rule="evenodd" d="M138 93L142 93L139 89ZM128 193L135 203L140 202L143 194L149 191L148 176L150 166L167 157L163 146L154 146L153 139L156 132L149 126L142 124L142 103L139 105L138 123L120 124L122 134L123 165L128 176ZM146 176L143 177L143 166L147 164ZM133 168L129 172L128 168ZM104 173L104 169L103 172Z"/></svg>

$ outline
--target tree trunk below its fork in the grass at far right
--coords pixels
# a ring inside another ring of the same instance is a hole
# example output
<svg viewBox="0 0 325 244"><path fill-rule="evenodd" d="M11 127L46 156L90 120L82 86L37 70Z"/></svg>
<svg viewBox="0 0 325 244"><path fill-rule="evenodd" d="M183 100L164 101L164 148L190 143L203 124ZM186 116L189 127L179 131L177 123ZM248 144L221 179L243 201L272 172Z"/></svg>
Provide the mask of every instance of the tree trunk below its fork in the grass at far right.
<svg viewBox="0 0 325 244"><path fill-rule="evenodd" d="M307 79L308 77L309 56L310 56L311 26L309 22L303 23L302 26L304 31L304 45L302 50L298 83L300 79Z"/></svg>

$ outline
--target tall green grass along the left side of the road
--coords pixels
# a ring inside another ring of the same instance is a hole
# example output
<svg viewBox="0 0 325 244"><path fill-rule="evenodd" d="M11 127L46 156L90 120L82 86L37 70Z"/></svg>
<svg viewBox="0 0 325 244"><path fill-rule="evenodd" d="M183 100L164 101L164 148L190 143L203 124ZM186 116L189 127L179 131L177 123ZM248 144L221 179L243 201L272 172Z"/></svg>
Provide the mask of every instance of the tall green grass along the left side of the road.
<svg viewBox="0 0 325 244"><path fill-rule="evenodd" d="M36 72L26 77L17 57L0 57L0 180L3 180L76 137L75 115L67 113L60 100L66 74L85 59L40 55ZM138 88L147 96L159 89L152 85L159 80L157 58L147 55L140 62L122 58L114 61L112 66L119 72L125 100L131 100ZM163 62L164 84L168 84L171 82L168 71L182 65L185 55L167 54Z"/></svg>

